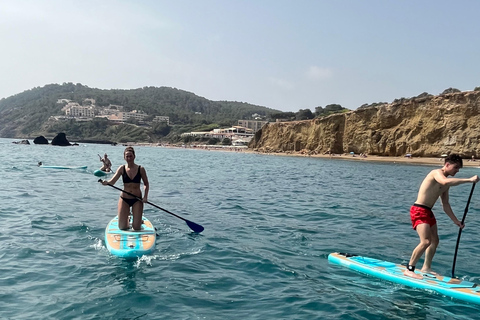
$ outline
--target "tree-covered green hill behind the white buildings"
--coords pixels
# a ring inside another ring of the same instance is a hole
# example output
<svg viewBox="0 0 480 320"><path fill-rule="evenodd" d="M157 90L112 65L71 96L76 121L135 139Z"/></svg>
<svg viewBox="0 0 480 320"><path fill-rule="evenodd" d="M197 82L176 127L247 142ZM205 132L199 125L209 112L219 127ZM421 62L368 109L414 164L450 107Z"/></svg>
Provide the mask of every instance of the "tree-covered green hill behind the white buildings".
<svg viewBox="0 0 480 320"><path fill-rule="evenodd" d="M97 106L120 105L124 111L143 111L152 118L168 116L170 125L139 126L135 123L112 125L106 119L88 122L53 121L64 115L58 103L68 99L79 104L94 99ZM226 127L239 119L252 119L252 114L269 118L278 110L234 101L211 101L193 93L169 87L139 89L97 89L82 84L64 83L36 87L0 100L0 137L47 138L65 132L70 140L109 140L116 142L156 142L175 140L186 131L202 127Z"/></svg>

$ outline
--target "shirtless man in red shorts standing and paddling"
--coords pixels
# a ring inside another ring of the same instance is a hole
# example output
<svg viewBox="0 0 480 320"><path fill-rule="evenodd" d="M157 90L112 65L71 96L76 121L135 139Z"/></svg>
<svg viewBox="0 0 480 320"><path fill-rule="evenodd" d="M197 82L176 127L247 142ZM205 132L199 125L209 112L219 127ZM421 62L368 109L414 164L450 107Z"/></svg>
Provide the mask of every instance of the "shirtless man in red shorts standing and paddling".
<svg viewBox="0 0 480 320"><path fill-rule="evenodd" d="M421 271L423 273L432 273L432 259L439 243L437 221L433 215L432 207L439 197L442 201L443 211L452 219L453 223L462 229L465 226L453 213L449 203L448 190L452 186L463 183L477 183L479 178L476 175L468 179L453 178L462 167L462 158L457 154L451 154L445 158L443 167L430 171L420 185L417 201L410 208L412 227L417 231L420 243L413 250L404 275L416 279L423 278L414 271L415 265L424 252L425 261ZM452 176L452 178L448 178L448 176Z"/></svg>

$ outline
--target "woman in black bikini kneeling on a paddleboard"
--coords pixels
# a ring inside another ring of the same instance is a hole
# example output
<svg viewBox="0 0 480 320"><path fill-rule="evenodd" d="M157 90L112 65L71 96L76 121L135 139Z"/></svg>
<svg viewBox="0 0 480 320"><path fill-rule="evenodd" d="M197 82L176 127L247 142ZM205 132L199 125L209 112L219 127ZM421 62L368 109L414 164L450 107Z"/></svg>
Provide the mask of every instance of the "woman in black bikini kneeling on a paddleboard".
<svg viewBox="0 0 480 320"><path fill-rule="evenodd" d="M126 165L118 167L115 175L108 181L102 181L103 185L114 185L117 180L122 177L124 191L134 194L136 197L125 192L120 194L118 199L118 228L126 230L128 226L128 216L130 215L130 208L132 208L134 230L141 230L143 204L148 201L148 178L145 168L135 164L135 150L132 147L127 147L123 152L123 157L127 162ZM140 182L143 181L144 195L142 198L142 191L140 190Z"/></svg>

